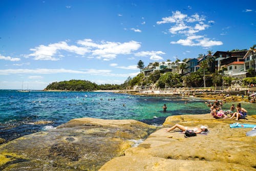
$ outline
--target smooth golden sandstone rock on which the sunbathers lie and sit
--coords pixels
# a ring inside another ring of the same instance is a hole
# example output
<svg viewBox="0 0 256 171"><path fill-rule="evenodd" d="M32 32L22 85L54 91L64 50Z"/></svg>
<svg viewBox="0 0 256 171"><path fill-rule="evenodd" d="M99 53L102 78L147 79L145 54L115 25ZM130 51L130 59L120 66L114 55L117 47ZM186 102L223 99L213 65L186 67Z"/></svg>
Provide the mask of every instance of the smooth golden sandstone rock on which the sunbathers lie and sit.
<svg viewBox="0 0 256 171"><path fill-rule="evenodd" d="M100 170L255 170L256 137L246 137L251 129L230 129L229 123L234 122L214 119L210 114L170 116L163 124L166 127L176 123L206 125L209 133L185 138L178 130L166 133L162 128ZM239 122L256 124L256 119L248 116Z"/></svg>

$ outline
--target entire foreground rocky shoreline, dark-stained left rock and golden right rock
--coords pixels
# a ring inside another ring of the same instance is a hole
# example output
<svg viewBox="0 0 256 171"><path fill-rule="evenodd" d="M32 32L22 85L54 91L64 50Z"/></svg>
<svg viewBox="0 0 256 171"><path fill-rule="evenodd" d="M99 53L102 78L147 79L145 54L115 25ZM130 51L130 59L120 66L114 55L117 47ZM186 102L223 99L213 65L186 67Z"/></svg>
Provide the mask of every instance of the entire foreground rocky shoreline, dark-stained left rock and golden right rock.
<svg viewBox="0 0 256 171"><path fill-rule="evenodd" d="M239 120L256 124L256 115ZM256 170L251 129L210 114L166 118L162 127L136 120L73 119L0 146L1 170ZM206 125L208 135L166 133L175 123ZM136 141L142 141L136 146Z"/></svg>

